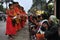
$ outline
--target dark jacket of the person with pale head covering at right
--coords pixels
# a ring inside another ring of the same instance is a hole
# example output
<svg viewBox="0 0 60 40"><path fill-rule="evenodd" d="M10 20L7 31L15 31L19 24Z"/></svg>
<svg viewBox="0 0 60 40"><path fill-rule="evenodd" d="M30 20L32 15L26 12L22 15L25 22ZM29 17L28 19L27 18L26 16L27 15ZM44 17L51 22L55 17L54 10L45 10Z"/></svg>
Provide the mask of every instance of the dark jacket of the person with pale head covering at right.
<svg viewBox="0 0 60 40"><path fill-rule="evenodd" d="M51 23L48 30L45 31L45 38L47 40L60 40L58 35L58 24Z"/></svg>

